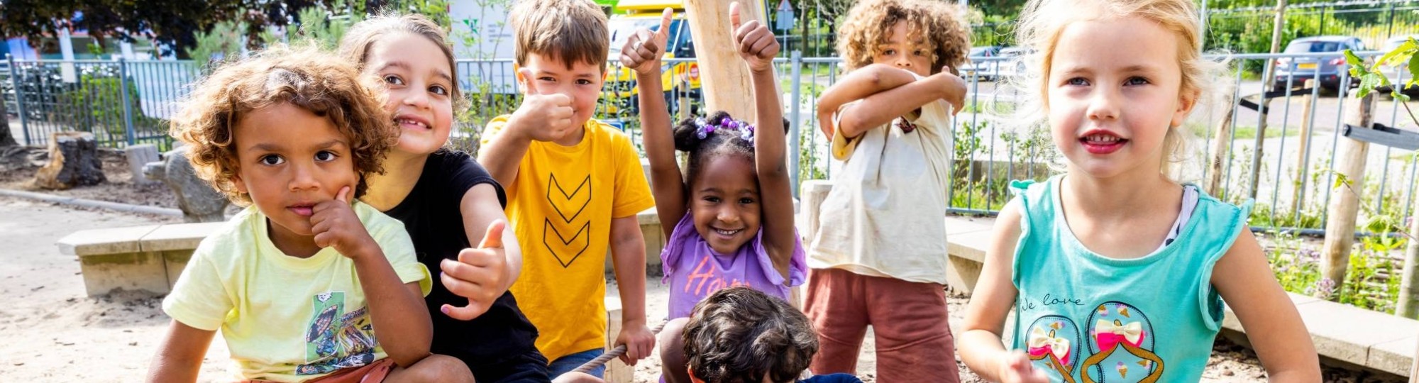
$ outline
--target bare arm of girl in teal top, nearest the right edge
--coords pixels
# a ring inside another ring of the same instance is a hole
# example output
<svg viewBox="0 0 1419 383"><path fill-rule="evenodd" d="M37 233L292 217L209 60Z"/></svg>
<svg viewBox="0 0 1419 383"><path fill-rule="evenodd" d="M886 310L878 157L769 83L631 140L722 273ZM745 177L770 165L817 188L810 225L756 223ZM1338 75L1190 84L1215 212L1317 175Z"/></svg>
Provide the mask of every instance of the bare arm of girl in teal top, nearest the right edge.
<svg viewBox="0 0 1419 383"><path fill-rule="evenodd" d="M1276 282L1252 230L1212 268L1212 285L1236 312L1270 382L1320 382L1320 357L1296 305Z"/></svg>

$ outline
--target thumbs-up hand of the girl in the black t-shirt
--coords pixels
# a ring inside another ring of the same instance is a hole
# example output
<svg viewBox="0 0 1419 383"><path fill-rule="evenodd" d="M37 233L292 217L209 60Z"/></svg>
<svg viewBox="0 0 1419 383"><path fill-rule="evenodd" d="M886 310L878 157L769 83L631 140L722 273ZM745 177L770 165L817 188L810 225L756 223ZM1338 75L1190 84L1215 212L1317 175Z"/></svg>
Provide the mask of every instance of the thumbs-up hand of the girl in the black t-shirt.
<svg viewBox="0 0 1419 383"><path fill-rule="evenodd" d="M467 306L443 305L438 311L458 321L473 321L502 296L507 291L508 258L502 250L502 230L508 223L497 220L488 226L488 233L482 235L482 243L477 248L458 251L458 260L443 260L438 262L438 281L450 292L468 298Z"/></svg>

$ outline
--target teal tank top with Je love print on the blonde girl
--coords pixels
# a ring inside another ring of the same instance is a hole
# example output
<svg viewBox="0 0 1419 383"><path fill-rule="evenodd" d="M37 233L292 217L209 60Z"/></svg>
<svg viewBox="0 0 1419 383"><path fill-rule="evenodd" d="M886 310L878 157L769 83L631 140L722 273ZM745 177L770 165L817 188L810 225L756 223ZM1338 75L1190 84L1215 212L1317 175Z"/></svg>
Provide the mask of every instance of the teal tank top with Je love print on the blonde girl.
<svg viewBox="0 0 1419 383"><path fill-rule="evenodd" d="M1051 382L1198 382L1222 323L1212 267L1250 211L1202 193L1166 247L1134 260L1095 254L1060 214L1061 176L1013 182L1022 207L1015 250L1013 349Z"/></svg>

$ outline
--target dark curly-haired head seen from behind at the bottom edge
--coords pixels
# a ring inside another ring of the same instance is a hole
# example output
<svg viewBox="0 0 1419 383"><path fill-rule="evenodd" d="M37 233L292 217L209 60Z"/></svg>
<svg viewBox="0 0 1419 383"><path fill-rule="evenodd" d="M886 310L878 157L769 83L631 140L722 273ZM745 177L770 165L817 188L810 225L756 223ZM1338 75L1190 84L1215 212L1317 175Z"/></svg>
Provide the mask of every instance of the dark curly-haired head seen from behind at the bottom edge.
<svg viewBox="0 0 1419 383"><path fill-rule="evenodd" d="M817 333L789 302L748 287L715 291L685 323L690 374L705 383L796 382Z"/></svg>

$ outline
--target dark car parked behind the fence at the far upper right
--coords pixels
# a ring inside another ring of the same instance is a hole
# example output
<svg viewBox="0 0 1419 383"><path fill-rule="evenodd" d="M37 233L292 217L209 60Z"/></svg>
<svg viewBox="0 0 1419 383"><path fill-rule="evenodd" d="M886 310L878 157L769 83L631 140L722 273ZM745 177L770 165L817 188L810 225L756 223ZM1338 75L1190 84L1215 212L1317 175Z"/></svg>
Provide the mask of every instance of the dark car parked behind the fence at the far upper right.
<svg viewBox="0 0 1419 383"><path fill-rule="evenodd" d="M1354 35L1317 35L1317 37L1301 37L1291 40L1286 44L1286 52L1288 54L1317 54L1317 52L1341 52L1344 50L1365 51L1365 43ZM1307 79L1314 78L1315 82L1325 91L1335 91L1340 88L1340 81L1344 77L1342 71L1348 71L1345 65L1345 57L1296 57L1296 58L1277 58L1276 60L1276 75L1273 79L1273 91L1284 91L1286 88L1296 88L1305 84ZM1349 87L1359 87L1359 81L1349 81Z"/></svg>

